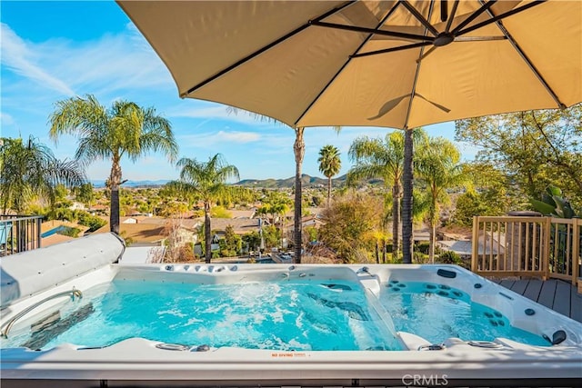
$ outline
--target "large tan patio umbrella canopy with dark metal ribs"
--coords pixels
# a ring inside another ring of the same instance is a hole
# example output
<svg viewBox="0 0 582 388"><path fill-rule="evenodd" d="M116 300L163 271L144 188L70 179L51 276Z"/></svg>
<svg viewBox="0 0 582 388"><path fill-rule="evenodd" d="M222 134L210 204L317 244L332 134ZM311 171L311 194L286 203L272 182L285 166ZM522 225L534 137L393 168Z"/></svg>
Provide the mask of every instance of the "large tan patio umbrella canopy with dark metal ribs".
<svg viewBox="0 0 582 388"><path fill-rule="evenodd" d="M294 128L409 129L582 101L580 1L118 4L181 97Z"/></svg>

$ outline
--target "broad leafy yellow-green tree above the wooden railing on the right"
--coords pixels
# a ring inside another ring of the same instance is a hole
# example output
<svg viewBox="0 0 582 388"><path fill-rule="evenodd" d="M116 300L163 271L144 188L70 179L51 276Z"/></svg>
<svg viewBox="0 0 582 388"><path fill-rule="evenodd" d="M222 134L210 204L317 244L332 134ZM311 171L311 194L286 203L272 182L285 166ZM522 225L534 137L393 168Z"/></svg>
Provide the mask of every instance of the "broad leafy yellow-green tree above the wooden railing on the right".
<svg viewBox="0 0 582 388"><path fill-rule="evenodd" d="M582 104L459 120L456 139L477 145L477 160L501 169L518 196L553 184L582 205Z"/></svg>

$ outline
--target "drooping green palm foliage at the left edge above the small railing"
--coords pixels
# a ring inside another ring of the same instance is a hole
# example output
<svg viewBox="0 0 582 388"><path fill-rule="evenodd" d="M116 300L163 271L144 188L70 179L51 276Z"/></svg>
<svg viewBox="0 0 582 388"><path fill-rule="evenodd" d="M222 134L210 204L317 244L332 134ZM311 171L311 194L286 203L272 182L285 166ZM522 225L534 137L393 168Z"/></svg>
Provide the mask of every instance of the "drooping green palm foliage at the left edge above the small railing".
<svg viewBox="0 0 582 388"><path fill-rule="evenodd" d="M61 161L34 137L0 139L0 206L2 213L23 214L35 198L55 203L58 184L84 184L85 171L75 161Z"/></svg>

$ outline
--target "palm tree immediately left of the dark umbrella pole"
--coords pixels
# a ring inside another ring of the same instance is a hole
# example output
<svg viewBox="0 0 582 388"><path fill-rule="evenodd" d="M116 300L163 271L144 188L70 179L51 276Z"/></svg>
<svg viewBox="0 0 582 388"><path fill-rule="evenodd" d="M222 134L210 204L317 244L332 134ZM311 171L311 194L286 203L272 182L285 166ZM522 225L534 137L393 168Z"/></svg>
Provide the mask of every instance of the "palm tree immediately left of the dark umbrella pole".
<svg viewBox="0 0 582 388"><path fill-rule="evenodd" d="M414 139L426 136L421 128L411 132ZM348 173L350 180L382 178L386 185L392 186L392 249L396 256L400 240L400 200L405 161L405 134L396 131L386 134L384 139L359 137L350 146L349 156L356 162Z"/></svg>

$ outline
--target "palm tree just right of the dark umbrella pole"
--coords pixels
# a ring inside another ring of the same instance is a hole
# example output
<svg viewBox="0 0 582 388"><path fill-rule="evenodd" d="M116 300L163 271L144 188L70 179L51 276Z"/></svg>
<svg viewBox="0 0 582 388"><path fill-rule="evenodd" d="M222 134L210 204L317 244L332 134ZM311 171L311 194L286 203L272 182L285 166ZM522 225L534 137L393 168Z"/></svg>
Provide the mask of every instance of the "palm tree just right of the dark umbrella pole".
<svg viewBox="0 0 582 388"><path fill-rule="evenodd" d="M416 160L416 174L426 184L427 219L430 224L428 257L431 263L435 262L439 202L447 201L447 189L465 180L462 165L459 164L460 158L461 154L455 144L443 137L431 137Z"/></svg>

